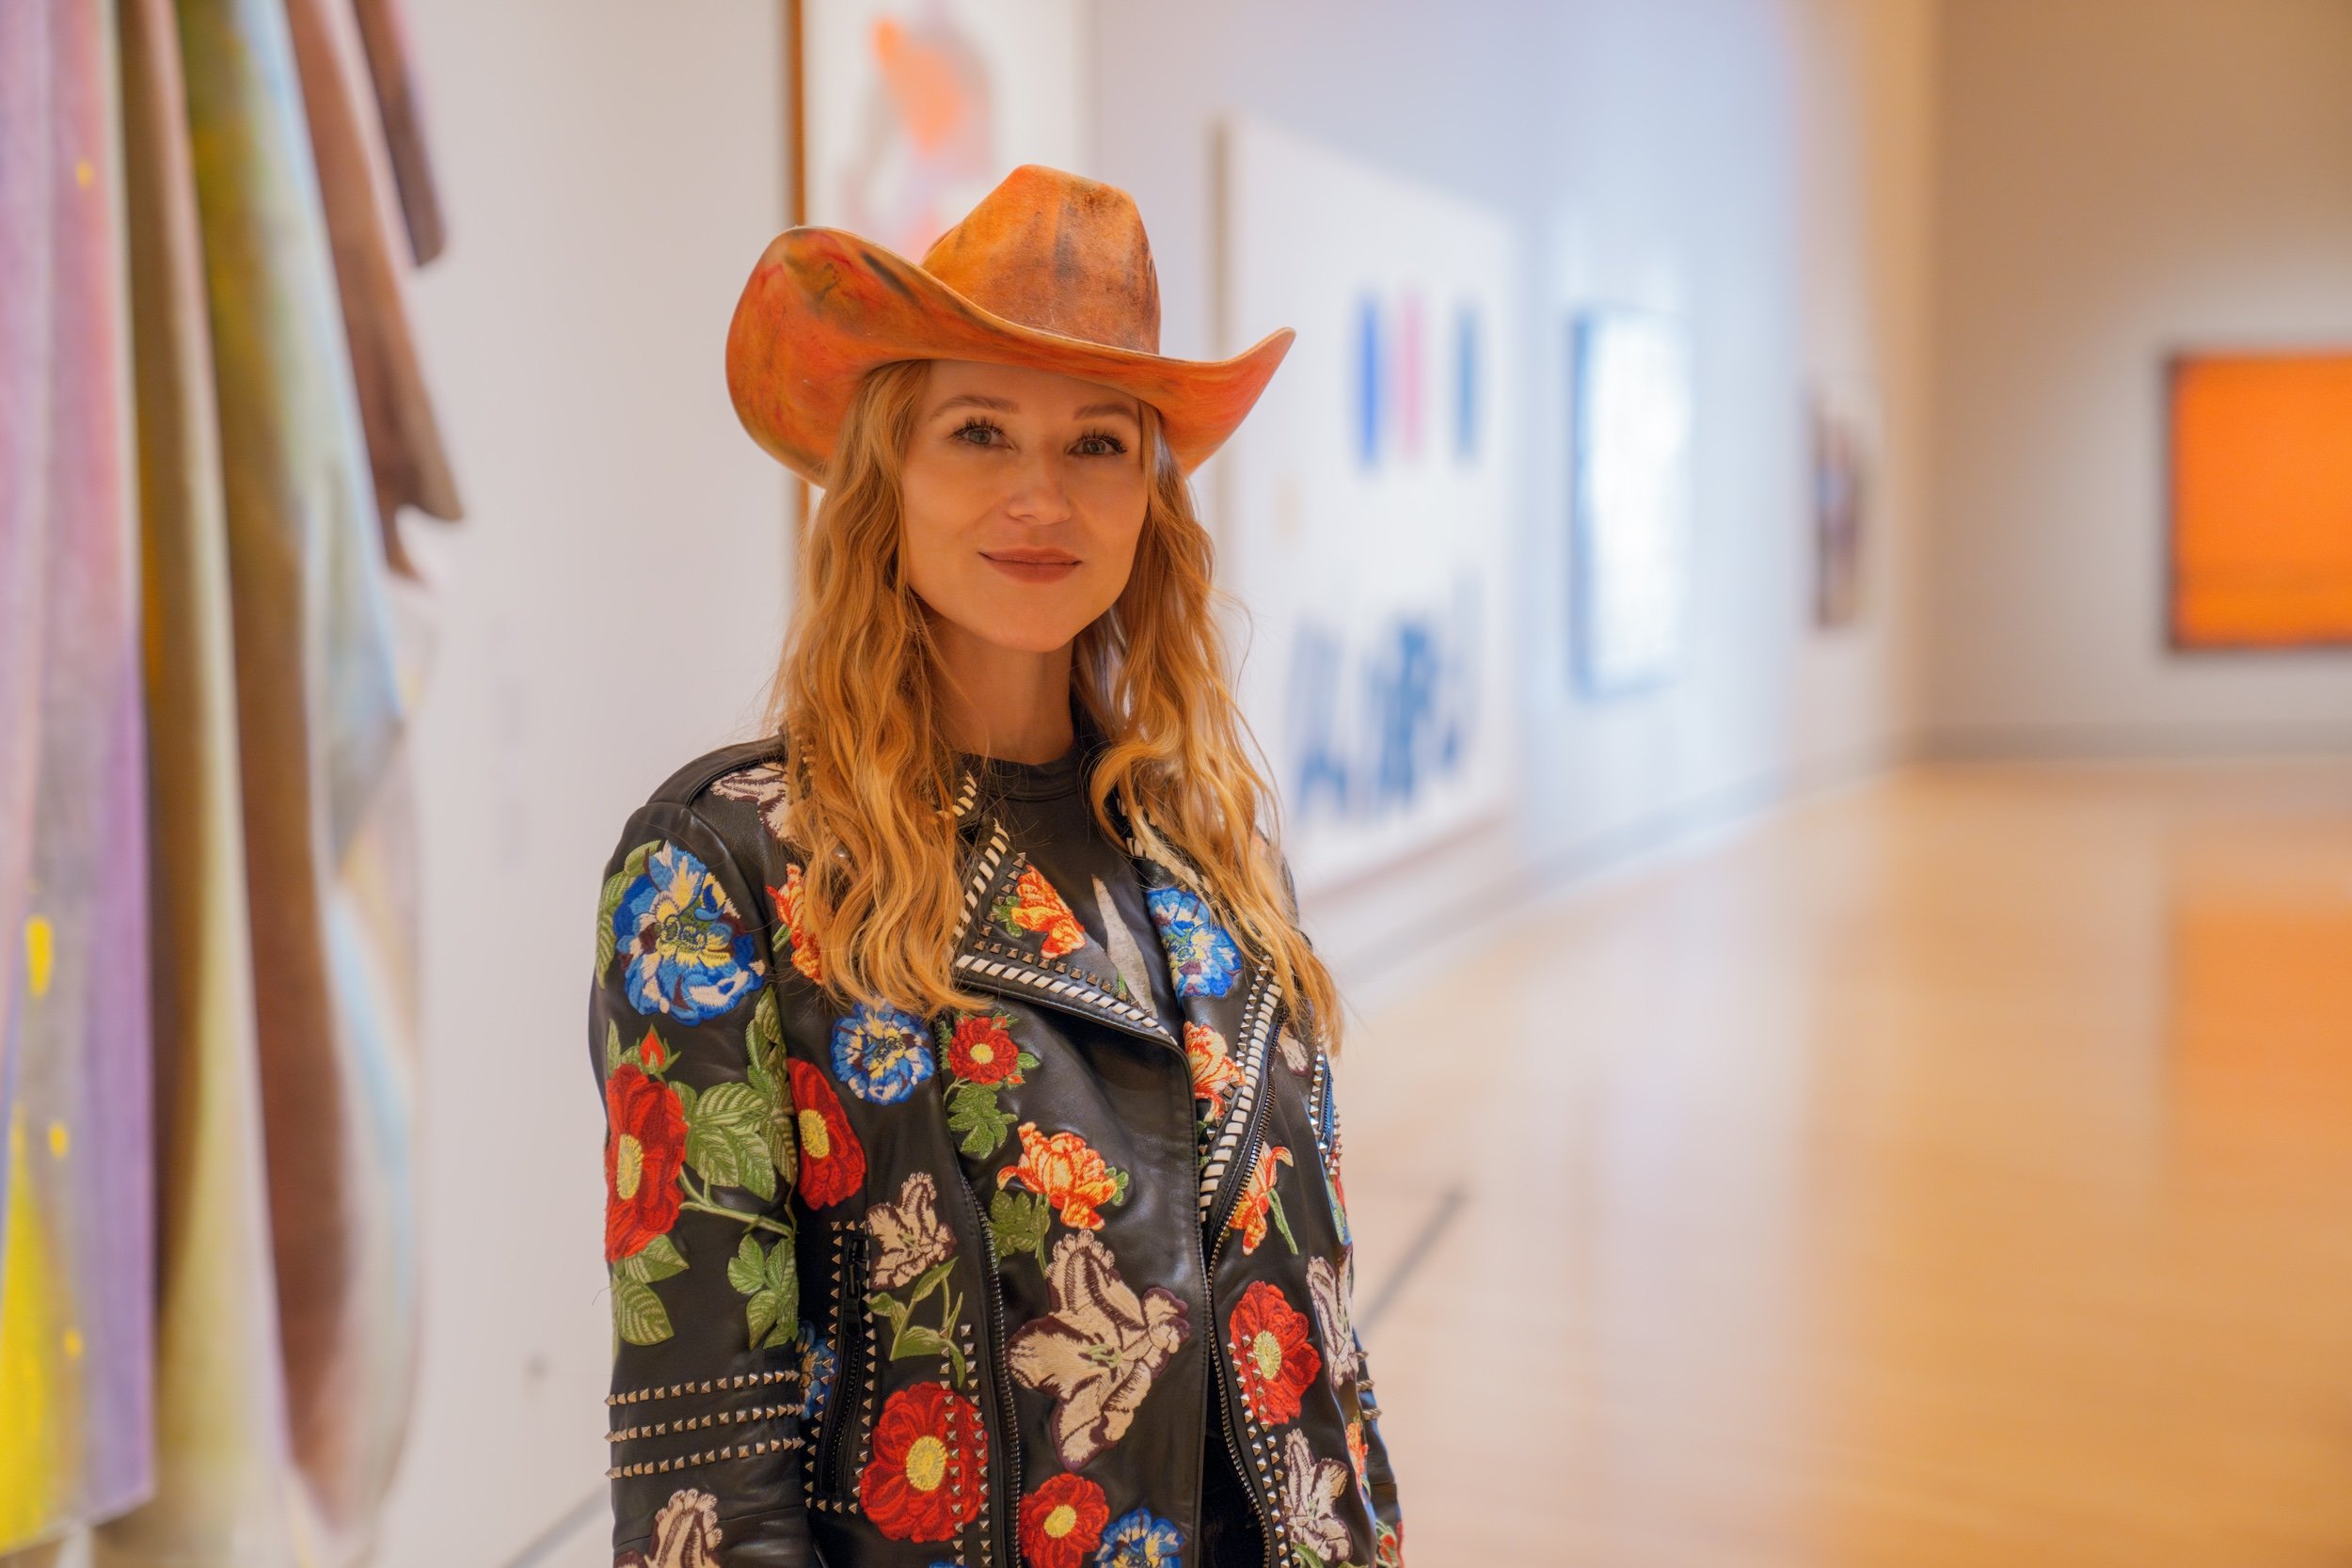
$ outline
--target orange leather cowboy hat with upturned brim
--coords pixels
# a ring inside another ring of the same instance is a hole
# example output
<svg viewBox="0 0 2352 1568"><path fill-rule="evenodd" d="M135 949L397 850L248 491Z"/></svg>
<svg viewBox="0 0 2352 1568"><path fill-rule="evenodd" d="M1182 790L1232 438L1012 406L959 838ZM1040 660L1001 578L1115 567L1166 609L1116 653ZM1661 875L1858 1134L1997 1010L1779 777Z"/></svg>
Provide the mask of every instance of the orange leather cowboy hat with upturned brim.
<svg viewBox="0 0 2352 1568"><path fill-rule="evenodd" d="M753 440L826 482L858 378L891 360L985 360L1098 381L1160 409L1192 473L1265 390L1291 329L1230 360L1160 355L1160 273L1136 200L1021 165L922 266L842 228L776 235L727 327L727 390Z"/></svg>

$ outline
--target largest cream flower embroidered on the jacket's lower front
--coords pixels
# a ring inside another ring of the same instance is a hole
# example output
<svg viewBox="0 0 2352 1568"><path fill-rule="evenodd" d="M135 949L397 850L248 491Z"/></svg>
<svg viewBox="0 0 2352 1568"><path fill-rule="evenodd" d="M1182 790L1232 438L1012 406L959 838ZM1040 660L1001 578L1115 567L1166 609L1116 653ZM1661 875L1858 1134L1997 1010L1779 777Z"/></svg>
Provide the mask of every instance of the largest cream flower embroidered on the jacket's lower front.
<svg viewBox="0 0 2352 1568"><path fill-rule="evenodd" d="M1054 1394L1054 1446L1077 1469L1127 1434L1152 1378L1192 1335L1190 1309L1167 1286L1141 1298L1091 1229L1054 1244L1051 1309L1007 1347L1021 1387Z"/></svg>

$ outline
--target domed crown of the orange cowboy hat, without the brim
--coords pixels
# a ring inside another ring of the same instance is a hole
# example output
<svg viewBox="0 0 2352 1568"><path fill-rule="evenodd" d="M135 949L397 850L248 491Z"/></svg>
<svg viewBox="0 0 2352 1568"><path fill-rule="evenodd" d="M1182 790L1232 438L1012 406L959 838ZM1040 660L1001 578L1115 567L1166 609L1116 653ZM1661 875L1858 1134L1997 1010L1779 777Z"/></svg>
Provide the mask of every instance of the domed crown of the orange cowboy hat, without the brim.
<svg viewBox="0 0 2352 1568"><path fill-rule="evenodd" d="M1160 270L1117 186L1021 165L924 252L922 270L1009 322L1160 353Z"/></svg>

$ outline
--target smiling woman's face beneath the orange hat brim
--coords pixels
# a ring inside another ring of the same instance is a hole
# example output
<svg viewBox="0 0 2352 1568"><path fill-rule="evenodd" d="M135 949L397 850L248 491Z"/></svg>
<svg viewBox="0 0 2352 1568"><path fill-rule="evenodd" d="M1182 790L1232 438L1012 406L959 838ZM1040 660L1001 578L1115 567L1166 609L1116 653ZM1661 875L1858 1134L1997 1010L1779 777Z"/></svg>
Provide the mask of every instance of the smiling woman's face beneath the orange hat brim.
<svg viewBox="0 0 2352 1568"><path fill-rule="evenodd" d="M901 503L908 583L941 618L1004 649L1061 649L1127 588L1145 501L1131 395L931 362Z"/></svg>

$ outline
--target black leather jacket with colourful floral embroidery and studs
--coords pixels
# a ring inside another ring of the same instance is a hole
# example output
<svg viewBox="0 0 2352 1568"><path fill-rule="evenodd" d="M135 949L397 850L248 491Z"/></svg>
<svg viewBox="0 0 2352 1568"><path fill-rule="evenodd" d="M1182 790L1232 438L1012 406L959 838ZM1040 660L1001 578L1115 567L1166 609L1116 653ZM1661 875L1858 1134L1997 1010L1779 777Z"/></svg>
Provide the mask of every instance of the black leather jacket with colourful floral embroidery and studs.
<svg viewBox="0 0 2352 1568"><path fill-rule="evenodd" d="M1136 851L1174 1039L969 783L957 830L941 1018L826 990L771 743L612 851L616 1568L1197 1568L1211 1408L1270 1566L1402 1563L1322 1044L1188 867Z"/></svg>

